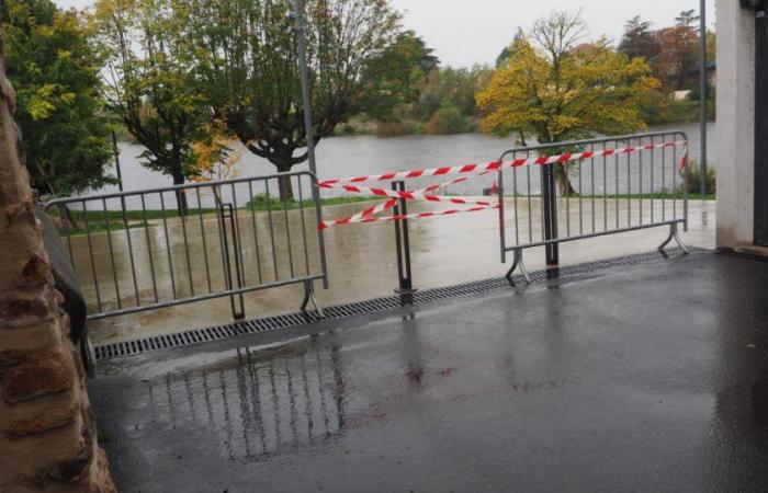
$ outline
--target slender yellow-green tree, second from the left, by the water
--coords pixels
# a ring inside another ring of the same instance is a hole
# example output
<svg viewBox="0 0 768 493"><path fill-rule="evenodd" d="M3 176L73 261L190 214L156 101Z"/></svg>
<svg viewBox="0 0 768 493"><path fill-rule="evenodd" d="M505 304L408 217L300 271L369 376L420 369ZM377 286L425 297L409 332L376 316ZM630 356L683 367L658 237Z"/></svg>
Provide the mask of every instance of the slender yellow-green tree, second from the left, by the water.
<svg viewBox="0 0 768 493"><path fill-rule="evenodd" d="M106 101L146 150L144 165L174 185L193 173L193 144L210 119L194 78L183 0L99 0L93 25L106 60ZM187 198L177 193L180 214Z"/></svg>

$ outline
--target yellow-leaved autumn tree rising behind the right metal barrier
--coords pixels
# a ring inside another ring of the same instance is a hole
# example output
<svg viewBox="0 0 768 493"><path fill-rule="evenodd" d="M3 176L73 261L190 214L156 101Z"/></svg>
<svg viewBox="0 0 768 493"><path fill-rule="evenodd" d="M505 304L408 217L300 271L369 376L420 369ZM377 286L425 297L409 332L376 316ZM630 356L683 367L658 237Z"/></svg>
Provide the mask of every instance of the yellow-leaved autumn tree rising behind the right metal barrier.
<svg viewBox="0 0 768 493"><path fill-rule="evenodd" d="M518 39L477 94L482 129L524 145L528 137L553 144L643 127L641 103L658 87L647 61L617 54L605 38L580 44L584 31L578 14L554 13ZM561 193L573 193L564 168L557 170Z"/></svg>

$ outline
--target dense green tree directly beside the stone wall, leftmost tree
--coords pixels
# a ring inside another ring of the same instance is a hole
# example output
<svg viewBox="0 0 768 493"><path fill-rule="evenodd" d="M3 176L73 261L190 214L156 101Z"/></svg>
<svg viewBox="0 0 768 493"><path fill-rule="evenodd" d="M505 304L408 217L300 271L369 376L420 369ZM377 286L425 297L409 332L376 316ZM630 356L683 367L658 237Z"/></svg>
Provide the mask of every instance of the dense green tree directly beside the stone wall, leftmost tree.
<svg viewBox="0 0 768 493"><path fill-rule="evenodd" d="M99 58L77 13L49 0L5 0L0 19L32 186L70 195L113 183Z"/></svg>

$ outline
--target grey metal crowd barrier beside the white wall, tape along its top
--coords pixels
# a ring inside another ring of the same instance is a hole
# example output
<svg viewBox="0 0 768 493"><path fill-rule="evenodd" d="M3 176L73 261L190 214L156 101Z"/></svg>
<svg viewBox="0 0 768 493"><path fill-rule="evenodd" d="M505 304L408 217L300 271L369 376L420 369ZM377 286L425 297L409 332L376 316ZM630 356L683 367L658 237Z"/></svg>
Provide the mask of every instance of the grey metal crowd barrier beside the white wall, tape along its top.
<svg viewBox="0 0 768 493"><path fill-rule="evenodd" d="M524 249L544 246L547 265L557 265L562 242L659 226L669 226L659 250L675 240L687 252L678 236L679 225L688 229L689 167L685 167L685 176L678 176L687 142L686 134L668 131L505 151L499 161L563 158L541 164L528 161L524 167L498 172L501 262L507 261L508 252L513 253L507 277L520 267L530 282ZM574 160L581 152L581 159Z"/></svg>

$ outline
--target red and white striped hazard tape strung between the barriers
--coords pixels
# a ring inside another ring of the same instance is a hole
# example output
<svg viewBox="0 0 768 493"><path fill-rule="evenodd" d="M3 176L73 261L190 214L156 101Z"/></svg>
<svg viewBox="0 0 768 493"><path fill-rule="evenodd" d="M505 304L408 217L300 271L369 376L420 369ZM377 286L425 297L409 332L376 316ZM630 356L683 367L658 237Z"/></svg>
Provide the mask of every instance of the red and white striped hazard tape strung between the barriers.
<svg viewBox="0 0 768 493"><path fill-rule="evenodd" d="M507 168L520 168L520 167L530 165L530 164L545 165L545 164L566 163L566 162L579 161L579 160L584 160L584 159L594 159L594 158L619 156L619 154L631 154L634 152L642 152L642 151L647 151L647 150L663 149L663 148L670 148L670 147L682 147L684 148L682 158L680 160L680 168L685 169L686 163L687 163L687 157L688 157L688 142L686 140L676 140L674 142L648 144L648 145L639 146L639 147L631 147L630 146L630 147L624 147L624 148L620 148L620 149L602 149L602 150L597 150L597 151L584 151L584 152L574 152L574 153L565 152L562 154L557 154L557 156L540 156L538 158L522 158L522 159L512 160L510 162L492 161L487 164L465 164L465 165L461 165L461 167L432 168L432 169L427 169L427 170L411 170L411 171L402 171L402 172L396 172L396 173L383 173L383 174L373 174L373 175L365 175L365 176L354 176L354 177L348 177L348 179L326 180L326 181L319 182L317 185L320 188L340 188L340 190L345 190L349 193L368 194L368 195L373 195L373 196L387 197L388 199L382 204L374 206L374 207L370 207L365 210L362 210L353 216L346 217L342 219L337 219L334 221L323 221L319 223L319 228L327 229L331 226L362 223L362 222L393 221L393 220L404 220L404 219L423 219L423 218L428 218L428 217L450 216L450 215L454 215L454 214L459 214L459 213L477 213L481 210L498 209L499 204L494 204L494 203L490 203L487 200L479 200L479 199L472 199L472 198L467 199L467 198L460 198L460 197L445 197L445 196L429 194L429 192L433 192L436 190L439 190L442 186L465 182L467 180L483 176L483 175L486 175L488 173L493 173L493 172L496 172L496 171L499 171L502 169L507 169ZM394 181L406 180L406 179L418 179L418 177L425 177L425 176L444 176L444 175L451 175L451 174L465 174L467 176L461 176L459 179L455 179L455 180L447 182L447 183L432 184L432 185L426 186L426 187L420 188L420 190L407 191L407 192L392 191L392 190L380 188L380 187L366 187L366 186L354 185L357 183L394 182ZM434 211L434 213L417 213L417 214L409 214L409 215L395 215L395 216L388 216L388 217L374 216L375 214L394 208L397 205L399 199L443 202L443 203L451 203L451 204L459 204L459 205L472 205L473 207L462 208L462 209L449 209L449 210L441 210L441 211Z"/></svg>

